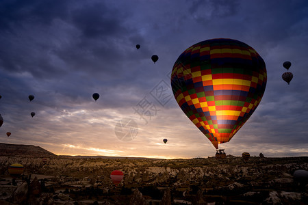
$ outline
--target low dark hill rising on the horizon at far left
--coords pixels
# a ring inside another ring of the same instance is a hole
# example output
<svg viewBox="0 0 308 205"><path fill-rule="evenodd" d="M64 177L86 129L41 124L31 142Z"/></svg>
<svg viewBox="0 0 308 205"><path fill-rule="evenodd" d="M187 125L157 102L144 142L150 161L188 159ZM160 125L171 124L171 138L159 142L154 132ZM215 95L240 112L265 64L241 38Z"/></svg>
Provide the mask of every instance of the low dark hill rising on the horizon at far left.
<svg viewBox="0 0 308 205"><path fill-rule="evenodd" d="M55 157L56 154L44 150L39 146L0 143L1 156L31 156L31 157Z"/></svg>

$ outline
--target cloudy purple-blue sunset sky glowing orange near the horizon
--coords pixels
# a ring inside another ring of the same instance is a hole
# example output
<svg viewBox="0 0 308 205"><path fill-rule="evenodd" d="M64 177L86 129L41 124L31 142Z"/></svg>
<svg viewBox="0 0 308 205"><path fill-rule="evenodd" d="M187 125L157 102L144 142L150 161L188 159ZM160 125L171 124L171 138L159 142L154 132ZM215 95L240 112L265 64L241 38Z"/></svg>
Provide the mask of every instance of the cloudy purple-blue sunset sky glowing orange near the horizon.
<svg viewBox="0 0 308 205"><path fill-rule="evenodd" d="M70 155L214 156L170 88L177 57L212 38L252 46L268 72L259 107L220 148L308 156L305 0L2 0L0 142Z"/></svg>

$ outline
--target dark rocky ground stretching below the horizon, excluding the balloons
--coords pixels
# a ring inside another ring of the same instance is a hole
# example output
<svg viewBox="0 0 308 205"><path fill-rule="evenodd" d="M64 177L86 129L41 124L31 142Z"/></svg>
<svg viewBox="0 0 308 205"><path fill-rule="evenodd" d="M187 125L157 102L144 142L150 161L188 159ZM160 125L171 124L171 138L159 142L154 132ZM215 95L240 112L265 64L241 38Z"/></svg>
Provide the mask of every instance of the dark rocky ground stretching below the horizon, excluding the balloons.
<svg viewBox="0 0 308 205"><path fill-rule="evenodd" d="M25 166L12 185L8 165ZM115 170L124 173L116 187ZM308 204L308 157L73 159L0 156L0 204Z"/></svg>

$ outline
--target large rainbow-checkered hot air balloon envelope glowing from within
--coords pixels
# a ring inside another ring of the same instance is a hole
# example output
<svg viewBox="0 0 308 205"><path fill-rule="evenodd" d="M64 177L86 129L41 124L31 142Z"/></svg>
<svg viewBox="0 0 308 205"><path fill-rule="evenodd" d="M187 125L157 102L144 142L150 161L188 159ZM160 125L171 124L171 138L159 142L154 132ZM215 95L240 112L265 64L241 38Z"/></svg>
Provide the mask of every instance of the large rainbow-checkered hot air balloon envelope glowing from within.
<svg viewBox="0 0 308 205"><path fill-rule="evenodd" d="M218 149L257 109L266 88L266 65L244 42L211 39L175 61L172 92L183 112Z"/></svg>

